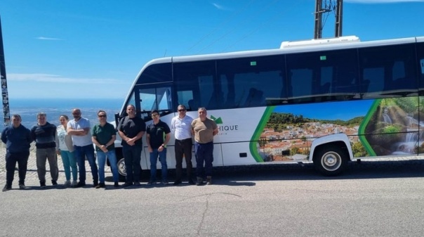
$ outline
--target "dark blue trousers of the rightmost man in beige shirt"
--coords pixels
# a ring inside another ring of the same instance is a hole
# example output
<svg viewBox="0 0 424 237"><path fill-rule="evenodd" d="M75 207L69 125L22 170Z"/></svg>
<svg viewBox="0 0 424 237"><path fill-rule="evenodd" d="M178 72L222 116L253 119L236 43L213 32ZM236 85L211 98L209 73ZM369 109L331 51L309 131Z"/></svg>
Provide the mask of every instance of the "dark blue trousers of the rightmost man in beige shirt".
<svg viewBox="0 0 424 237"><path fill-rule="evenodd" d="M213 142L194 143L194 153L196 154L196 176L212 176L213 162ZM203 167L204 164L204 167Z"/></svg>

